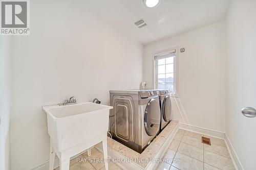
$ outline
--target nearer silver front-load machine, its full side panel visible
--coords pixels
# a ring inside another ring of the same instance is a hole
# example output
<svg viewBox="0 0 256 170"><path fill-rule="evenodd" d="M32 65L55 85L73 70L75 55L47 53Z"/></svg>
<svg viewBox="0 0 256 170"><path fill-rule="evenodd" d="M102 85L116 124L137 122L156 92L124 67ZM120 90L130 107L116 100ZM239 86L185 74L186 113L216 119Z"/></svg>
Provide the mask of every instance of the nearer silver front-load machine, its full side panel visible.
<svg viewBox="0 0 256 170"><path fill-rule="evenodd" d="M160 130L158 90L111 90L110 105L113 139L142 153Z"/></svg>

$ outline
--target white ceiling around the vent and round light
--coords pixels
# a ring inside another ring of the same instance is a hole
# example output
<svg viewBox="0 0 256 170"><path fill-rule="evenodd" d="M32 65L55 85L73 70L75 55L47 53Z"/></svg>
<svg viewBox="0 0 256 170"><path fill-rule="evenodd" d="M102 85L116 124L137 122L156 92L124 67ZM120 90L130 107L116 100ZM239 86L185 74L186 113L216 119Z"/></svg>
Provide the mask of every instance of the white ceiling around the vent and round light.
<svg viewBox="0 0 256 170"><path fill-rule="evenodd" d="M159 0L147 8L143 0L86 0L88 9L142 44L209 25L226 16L231 0ZM137 28L143 18L148 25Z"/></svg>

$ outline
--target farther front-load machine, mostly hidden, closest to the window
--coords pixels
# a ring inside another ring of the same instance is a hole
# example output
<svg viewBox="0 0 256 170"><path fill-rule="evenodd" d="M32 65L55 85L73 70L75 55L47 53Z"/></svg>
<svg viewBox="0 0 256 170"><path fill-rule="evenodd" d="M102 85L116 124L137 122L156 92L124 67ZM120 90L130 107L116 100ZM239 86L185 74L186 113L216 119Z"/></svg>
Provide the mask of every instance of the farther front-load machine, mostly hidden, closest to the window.
<svg viewBox="0 0 256 170"><path fill-rule="evenodd" d="M159 103L161 108L160 131L162 131L170 123L170 115L172 113L172 103L168 90L159 90Z"/></svg>

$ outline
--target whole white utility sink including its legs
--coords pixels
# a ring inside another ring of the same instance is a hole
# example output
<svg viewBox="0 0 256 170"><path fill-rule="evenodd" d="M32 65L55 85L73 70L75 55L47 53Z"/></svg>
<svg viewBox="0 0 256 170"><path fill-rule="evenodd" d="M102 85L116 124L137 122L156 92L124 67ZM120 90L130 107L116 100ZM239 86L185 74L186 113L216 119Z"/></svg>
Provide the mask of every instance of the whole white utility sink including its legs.
<svg viewBox="0 0 256 170"><path fill-rule="evenodd" d="M107 132L109 110L112 106L84 102L66 106L45 106L50 135L50 168L55 153L60 159L60 170L69 169L70 158L102 142L104 158L108 159ZM108 169L108 162L105 161Z"/></svg>

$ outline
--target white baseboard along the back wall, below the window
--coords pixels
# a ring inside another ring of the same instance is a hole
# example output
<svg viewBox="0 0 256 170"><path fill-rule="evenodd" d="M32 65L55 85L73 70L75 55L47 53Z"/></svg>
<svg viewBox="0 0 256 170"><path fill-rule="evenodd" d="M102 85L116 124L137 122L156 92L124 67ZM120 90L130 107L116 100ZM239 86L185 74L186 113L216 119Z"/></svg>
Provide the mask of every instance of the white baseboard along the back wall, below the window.
<svg viewBox="0 0 256 170"><path fill-rule="evenodd" d="M180 129L184 129L184 130L188 130L188 131L194 131L194 132L201 133L201 134L204 134L204 135L209 135L209 136L212 136L212 137L225 139L225 133L224 132L219 132L219 131L215 131L215 130L211 130L211 129L200 128L200 127L196 127L196 126L192 126L192 125L188 125L188 124L183 124L183 123L179 123L179 127L180 127Z"/></svg>

